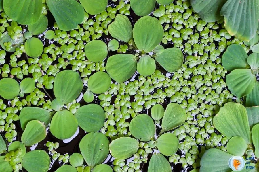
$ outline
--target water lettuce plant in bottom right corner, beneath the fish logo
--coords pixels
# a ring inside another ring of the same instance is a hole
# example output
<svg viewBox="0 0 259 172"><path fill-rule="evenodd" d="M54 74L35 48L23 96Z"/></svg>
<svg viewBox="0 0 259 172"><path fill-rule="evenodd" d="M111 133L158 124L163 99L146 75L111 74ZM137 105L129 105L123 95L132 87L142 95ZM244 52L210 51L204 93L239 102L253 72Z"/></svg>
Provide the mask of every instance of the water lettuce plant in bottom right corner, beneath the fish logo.
<svg viewBox="0 0 259 172"><path fill-rule="evenodd" d="M256 157L259 156L258 112L259 106L245 108L233 102L220 108L213 118L213 125L229 139L227 151L214 148L206 150L201 158L200 172L241 171L245 165L242 157L244 154L252 155L254 152ZM239 163L234 166L236 161ZM250 166L255 164L250 163ZM257 166L251 171L256 170Z"/></svg>

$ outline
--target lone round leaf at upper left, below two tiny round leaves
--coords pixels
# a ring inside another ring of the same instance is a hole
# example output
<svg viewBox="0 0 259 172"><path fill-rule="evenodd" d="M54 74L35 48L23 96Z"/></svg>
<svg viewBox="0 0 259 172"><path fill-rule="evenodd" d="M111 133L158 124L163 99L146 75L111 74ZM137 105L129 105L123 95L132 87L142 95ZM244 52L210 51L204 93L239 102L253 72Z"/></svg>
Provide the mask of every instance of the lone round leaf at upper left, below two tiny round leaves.
<svg viewBox="0 0 259 172"><path fill-rule="evenodd" d="M24 49L28 56L37 58L41 56L43 52L43 43L39 38L32 37L26 40Z"/></svg>

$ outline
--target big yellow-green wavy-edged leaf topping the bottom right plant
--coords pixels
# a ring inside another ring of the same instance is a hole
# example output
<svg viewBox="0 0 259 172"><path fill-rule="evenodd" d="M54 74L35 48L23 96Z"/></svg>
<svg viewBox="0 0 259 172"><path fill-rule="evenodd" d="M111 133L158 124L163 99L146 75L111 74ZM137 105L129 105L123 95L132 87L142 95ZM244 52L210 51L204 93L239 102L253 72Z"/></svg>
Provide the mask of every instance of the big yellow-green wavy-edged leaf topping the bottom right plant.
<svg viewBox="0 0 259 172"><path fill-rule="evenodd" d="M247 112L243 105L233 102L226 103L213 118L213 125L226 138L240 136L245 139L247 144L251 144Z"/></svg>

